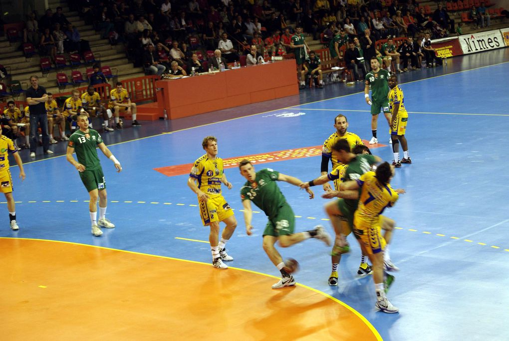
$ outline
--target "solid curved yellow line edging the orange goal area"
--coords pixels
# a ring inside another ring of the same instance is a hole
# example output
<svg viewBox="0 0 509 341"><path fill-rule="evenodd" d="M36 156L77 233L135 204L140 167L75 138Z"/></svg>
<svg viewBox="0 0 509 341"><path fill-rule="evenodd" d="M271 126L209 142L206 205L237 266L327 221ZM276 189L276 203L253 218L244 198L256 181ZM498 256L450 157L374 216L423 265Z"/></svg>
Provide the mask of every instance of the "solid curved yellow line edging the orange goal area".
<svg viewBox="0 0 509 341"><path fill-rule="evenodd" d="M101 248L101 249L105 249L105 250L120 251L120 252L126 252L126 253L131 253L131 254L138 254L138 255L144 255L144 256L149 256L149 257L156 257L156 258L169 259L169 260L174 260L174 261L181 261L181 262L188 262L188 263L202 264L202 265L210 266L210 263L190 261L190 260L185 260L185 259L180 259L180 258L173 258L173 257L166 257L166 256L162 256L162 255L157 255L157 254L150 254L150 253L143 253L143 252L122 250L122 249L114 249L114 248L105 247L105 246L81 244L81 243L74 243L74 242L65 242L65 241L60 241L60 240L37 239L37 238L10 238L10 237L0 237L0 239L27 239L27 240L38 240L38 241L44 241L44 242L55 242L55 243L65 243L65 244L72 244L72 245L83 245L83 246ZM206 243L208 243L208 242L206 242ZM235 270L240 270L240 271L245 271L245 272L249 272L249 273L253 273L253 274L257 274L257 275L267 276L267 277L271 277L271 278L277 278L277 279L280 278L280 277L277 277L277 276L269 275L269 274L266 274L266 273L263 273L263 272L258 272L258 271L241 269L241 268L236 268L236 267L231 267L231 266L229 266L229 268L230 269L235 269ZM324 292L322 292L320 290L317 290L317 289L314 289L314 288L302 285L300 283L297 283L297 286L302 287L304 289L311 290L311 291L313 291L313 292L315 292L317 294L321 294L321 295L327 297L328 299L331 299L334 302L341 304L342 306L344 306L345 308L347 308L348 310L353 312L353 314L355 314L355 316L357 316L368 328L370 328L370 330L373 332L373 334L375 335L377 340L383 341L382 336L380 335L378 330L371 324L371 322L368 321L362 314L360 314L360 312L358 312L357 310L352 308L350 305L348 305L345 302L342 302L342 301L338 300L337 298L334 298L334 297L332 297L332 296L330 296L330 295L328 295L328 294L326 294L326 293L324 293Z"/></svg>

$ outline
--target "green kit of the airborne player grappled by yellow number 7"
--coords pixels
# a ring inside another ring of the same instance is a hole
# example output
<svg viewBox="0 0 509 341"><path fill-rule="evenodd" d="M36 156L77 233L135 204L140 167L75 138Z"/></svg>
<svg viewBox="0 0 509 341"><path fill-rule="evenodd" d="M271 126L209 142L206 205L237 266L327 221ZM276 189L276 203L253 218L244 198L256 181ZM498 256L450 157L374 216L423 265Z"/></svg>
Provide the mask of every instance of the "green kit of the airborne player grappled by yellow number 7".
<svg viewBox="0 0 509 341"><path fill-rule="evenodd" d="M347 170L345 172L345 178L342 179L342 182L350 181L350 180L358 180L360 176L364 173L367 173L371 171L371 167L373 164L375 164L376 160L373 155L369 154L360 154L356 155L350 162L348 163ZM336 180L331 179L333 176L328 176L329 180ZM360 194L360 189L359 189ZM358 199L343 199L340 198L337 201L337 205L340 208L341 213L343 214L343 217L346 218L348 221L348 224L350 225L350 228L353 229L353 215L355 213L355 210L357 209L357 206L359 204Z"/></svg>

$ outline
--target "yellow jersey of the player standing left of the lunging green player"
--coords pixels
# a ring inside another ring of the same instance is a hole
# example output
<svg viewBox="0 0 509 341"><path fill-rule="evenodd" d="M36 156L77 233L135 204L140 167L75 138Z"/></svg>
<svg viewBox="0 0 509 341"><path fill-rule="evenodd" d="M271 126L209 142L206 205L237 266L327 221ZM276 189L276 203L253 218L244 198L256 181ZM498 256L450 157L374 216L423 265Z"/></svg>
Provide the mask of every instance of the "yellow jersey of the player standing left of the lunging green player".
<svg viewBox="0 0 509 341"><path fill-rule="evenodd" d="M223 161L216 157L211 160L207 154L197 159L189 176L196 179L198 188L209 196L221 195L221 179L223 175Z"/></svg>

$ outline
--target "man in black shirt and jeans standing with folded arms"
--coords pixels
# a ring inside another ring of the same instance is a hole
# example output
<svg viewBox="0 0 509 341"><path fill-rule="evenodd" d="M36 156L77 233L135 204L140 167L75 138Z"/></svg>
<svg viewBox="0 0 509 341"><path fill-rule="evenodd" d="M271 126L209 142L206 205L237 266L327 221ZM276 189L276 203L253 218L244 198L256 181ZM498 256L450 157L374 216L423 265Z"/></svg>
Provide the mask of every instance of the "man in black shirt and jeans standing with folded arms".
<svg viewBox="0 0 509 341"><path fill-rule="evenodd" d="M42 149L44 154L53 154L49 150L49 135L48 135L48 116L46 114L45 103L48 101L46 89L39 86L39 77L33 75L30 77L32 86L26 90L26 103L29 104L30 110L30 157L35 157L37 150L38 125L42 131Z"/></svg>

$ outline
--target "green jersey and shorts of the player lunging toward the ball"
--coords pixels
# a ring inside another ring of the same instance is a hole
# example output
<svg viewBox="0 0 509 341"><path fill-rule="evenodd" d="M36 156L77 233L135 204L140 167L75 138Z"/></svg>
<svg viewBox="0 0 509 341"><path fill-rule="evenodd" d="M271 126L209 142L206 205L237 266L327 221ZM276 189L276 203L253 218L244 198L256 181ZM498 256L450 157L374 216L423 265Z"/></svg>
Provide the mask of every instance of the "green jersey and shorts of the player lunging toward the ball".
<svg viewBox="0 0 509 341"><path fill-rule="evenodd" d="M247 181L240 189L242 200L252 201L269 218L264 236L290 235L295 229L295 214L275 182L278 177L279 172L262 169L256 173L253 183Z"/></svg>

